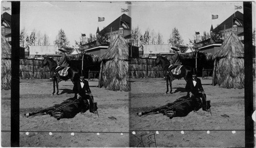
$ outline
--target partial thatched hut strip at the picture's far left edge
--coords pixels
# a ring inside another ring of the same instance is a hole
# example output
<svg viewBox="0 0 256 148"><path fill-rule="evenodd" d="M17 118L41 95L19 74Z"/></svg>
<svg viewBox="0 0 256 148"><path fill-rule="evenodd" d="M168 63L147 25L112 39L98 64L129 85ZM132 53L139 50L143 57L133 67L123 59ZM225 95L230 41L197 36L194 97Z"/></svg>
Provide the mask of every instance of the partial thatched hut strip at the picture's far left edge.
<svg viewBox="0 0 256 148"><path fill-rule="evenodd" d="M1 35L1 89L11 89L11 46Z"/></svg>

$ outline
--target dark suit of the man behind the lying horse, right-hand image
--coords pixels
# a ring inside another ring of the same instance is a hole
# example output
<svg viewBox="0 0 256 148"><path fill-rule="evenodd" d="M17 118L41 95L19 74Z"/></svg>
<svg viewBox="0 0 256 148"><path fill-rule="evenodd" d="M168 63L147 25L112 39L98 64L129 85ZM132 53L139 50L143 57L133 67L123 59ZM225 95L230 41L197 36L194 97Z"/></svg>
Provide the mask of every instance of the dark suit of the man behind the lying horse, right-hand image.
<svg viewBox="0 0 256 148"><path fill-rule="evenodd" d="M202 87L201 80L196 78L196 85L194 86L193 78L188 79L185 89L187 91L188 96L190 92L193 93L194 96L192 97L196 97L198 103L199 104L201 103L201 105L198 108L196 108L196 110L199 110L201 107L203 108L203 110L206 110L206 94L204 94L204 97L202 97L201 92L204 91L204 89ZM201 101L201 98L202 98L202 101Z"/></svg>

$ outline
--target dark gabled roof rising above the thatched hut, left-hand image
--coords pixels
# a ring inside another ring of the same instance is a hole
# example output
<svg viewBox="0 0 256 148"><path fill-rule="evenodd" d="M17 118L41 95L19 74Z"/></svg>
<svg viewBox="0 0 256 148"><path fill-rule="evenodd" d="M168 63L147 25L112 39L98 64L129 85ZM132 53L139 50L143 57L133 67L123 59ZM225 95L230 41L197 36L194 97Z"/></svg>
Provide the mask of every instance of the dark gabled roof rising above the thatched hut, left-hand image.
<svg viewBox="0 0 256 148"><path fill-rule="evenodd" d="M126 14L122 14L116 20L114 20L108 26L102 29L99 33L111 32L111 28L112 28L112 31L119 30L119 28L123 28L125 30L131 30L131 17Z"/></svg>

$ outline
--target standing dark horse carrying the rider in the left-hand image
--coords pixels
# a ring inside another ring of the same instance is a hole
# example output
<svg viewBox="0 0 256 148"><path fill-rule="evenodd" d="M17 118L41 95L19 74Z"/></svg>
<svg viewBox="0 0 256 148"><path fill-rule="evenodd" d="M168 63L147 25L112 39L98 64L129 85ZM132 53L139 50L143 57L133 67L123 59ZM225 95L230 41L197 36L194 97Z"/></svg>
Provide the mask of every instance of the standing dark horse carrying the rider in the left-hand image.
<svg viewBox="0 0 256 148"><path fill-rule="evenodd" d="M57 77L56 77L56 74L54 72L54 70L56 69L57 67L57 62L54 61L52 58L49 58L47 56L44 57L44 61L42 61L42 64L41 64L41 67L44 67L44 66L48 66L49 69L50 69L50 78L52 78L52 82L53 82L53 92L52 92L52 95L54 95L55 93L55 84L56 84L56 88L57 88L57 92L56 94L59 93L59 86L58 86L58 80L57 80ZM79 70L77 68L74 68L74 67L70 67L68 69L68 75L65 76L65 77L62 77L60 76L60 78L62 80L71 80L74 84L74 81L75 80L79 80L80 76L79 76Z"/></svg>

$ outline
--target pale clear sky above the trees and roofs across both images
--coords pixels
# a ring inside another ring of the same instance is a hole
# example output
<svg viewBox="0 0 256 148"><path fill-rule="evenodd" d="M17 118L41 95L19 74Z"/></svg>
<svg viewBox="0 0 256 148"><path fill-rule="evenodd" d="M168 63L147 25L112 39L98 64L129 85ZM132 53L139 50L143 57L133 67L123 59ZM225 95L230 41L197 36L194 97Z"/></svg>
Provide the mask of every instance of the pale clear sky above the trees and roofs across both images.
<svg viewBox="0 0 256 148"><path fill-rule="evenodd" d="M103 29L118 18L121 8L129 9L125 13L132 18L133 28L139 27L141 34L147 28L163 35L166 44L174 27L176 27L184 43L194 40L195 32L210 31L211 24L215 28L235 10L234 6L242 6L243 2L132 2L131 5L121 2L20 2L20 30L25 28L30 35L35 29L50 37L53 45L58 31L63 29L70 41L80 41L80 36L90 33L96 35L97 27ZM2 1L2 6L11 7L10 2ZM255 28L255 3L253 9L253 28ZM237 11L237 10L236 10ZM243 9L238 10L243 13ZM11 13L11 11L2 11ZM218 15L218 19L211 19L211 14ZM98 22L98 17L105 20Z"/></svg>

